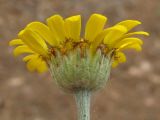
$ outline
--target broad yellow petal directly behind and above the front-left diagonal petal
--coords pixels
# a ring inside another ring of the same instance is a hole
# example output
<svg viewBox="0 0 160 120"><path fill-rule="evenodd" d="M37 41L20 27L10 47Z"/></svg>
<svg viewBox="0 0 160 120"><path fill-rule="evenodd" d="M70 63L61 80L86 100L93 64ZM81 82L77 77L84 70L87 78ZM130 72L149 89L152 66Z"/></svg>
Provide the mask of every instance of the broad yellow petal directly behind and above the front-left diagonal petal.
<svg viewBox="0 0 160 120"><path fill-rule="evenodd" d="M32 22L29 25L27 25L27 28L37 33L51 46L57 46L58 42L55 35L50 31L50 29L45 24L41 22Z"/></svg>

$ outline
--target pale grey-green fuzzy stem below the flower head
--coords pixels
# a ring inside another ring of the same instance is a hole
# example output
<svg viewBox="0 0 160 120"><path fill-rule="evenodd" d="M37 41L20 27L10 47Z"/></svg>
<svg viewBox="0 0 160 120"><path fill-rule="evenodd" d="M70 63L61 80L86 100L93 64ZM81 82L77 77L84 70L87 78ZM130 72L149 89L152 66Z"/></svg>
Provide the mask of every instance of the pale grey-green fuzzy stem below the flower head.
<svg viewBox="0 0 160 120"><path fill-rule="evenodd" d="M90 97L91 92L89 90L75 92L78 120L90 120Z"/></svg>

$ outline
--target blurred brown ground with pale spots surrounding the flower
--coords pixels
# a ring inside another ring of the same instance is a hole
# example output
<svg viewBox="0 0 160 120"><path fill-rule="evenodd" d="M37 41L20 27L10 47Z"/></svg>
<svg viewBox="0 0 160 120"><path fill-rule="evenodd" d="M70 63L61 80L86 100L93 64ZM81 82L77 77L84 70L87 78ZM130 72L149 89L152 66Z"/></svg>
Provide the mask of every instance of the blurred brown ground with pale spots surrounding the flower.
<svg viewBox="0 0 160 120"><path fill-rule="evenodd" d="M160 0L0 0L0 120L76 120L72 95L49 73L30 73L8 42L31 21L53 14L108 17L107 26L138 19L148 31L143 51L127 52L127 63L113 69L107 86L92 99L92 120L160 120Z"/></svg>

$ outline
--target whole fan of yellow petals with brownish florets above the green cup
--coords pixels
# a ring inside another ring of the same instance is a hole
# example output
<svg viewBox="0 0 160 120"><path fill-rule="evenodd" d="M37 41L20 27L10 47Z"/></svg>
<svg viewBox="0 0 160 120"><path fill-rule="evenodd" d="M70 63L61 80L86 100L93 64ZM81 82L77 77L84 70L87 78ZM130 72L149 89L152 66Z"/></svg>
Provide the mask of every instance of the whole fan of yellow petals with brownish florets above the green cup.
<svg viewBox="0 0 160 120"><path fill-rule="evenodd" d="M82 37L80 15L66 19L54 15L46 22L30 23L20 31L18 39L10 41L10 46L16 46L15 56L26 55L23 60L30 71L45 72L51 57L56 57L58 53L66 56L77 49L80 49L82 57L86 51L94 56L100 50L104 56L112 59L112 66L115 67L126 61L123 50L141 50L143 42L134 35L149 35L144 31L130 32L141 24L137 20L125 20L104 29L107 18L100 14L90 16Z"/></svg>

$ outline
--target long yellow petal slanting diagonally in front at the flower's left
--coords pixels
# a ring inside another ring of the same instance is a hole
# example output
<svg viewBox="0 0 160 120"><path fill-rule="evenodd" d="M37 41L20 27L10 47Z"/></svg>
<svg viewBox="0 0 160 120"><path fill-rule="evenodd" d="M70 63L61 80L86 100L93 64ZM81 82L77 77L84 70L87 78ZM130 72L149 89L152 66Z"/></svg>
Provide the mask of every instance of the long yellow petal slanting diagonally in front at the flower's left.
<svg viewBox="0 0 160 120"><path fill-rule="evenodd" d="M19 38L28 45L33 51L37 52L40 55L47 57L48 47L45 41L35 32L30 29L25 29L19 33Z"/></svg>

